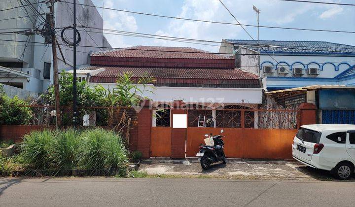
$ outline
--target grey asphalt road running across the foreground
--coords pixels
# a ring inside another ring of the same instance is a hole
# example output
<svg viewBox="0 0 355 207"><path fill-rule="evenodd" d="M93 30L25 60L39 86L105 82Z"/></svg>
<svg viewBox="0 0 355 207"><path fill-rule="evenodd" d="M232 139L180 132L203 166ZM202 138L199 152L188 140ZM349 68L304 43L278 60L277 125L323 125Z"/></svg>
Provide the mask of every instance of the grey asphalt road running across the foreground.
<svg viewBox="0 0 355 207"><path fill-rule="evenodd" d="M354 206L355 182L0 179L0 206Z"/></svg>

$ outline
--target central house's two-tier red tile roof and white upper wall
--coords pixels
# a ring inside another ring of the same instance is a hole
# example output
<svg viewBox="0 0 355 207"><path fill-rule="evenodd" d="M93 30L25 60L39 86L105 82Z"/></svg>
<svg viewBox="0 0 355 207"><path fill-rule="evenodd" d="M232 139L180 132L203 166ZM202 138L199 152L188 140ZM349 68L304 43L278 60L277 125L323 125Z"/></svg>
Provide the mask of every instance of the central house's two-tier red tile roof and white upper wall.
<svg viewBox="0 0 355 207"><path fill-rule="evenodd" d="M115 86L117 77L132 73L134 78L154 77L153 105L261 104L262 86L257 75L235 68L234 56L213 54L189 47L135 46L95 52L90 66L77 70L89 84Z"/></svg>

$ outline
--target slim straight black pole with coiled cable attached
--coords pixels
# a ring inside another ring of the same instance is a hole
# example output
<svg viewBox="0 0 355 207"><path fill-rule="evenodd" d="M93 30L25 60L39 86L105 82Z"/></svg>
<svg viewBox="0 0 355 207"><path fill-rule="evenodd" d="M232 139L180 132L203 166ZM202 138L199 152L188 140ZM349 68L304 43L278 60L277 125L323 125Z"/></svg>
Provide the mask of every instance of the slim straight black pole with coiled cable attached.
<svg viewBox="0 0 355 207"><path fill-rule="evenodd" d="M77 100L76 100L76 0L73 3L74 6L74 21L73 21L73 125L74 129L76 129L76 117L77 117Z"/></svg>

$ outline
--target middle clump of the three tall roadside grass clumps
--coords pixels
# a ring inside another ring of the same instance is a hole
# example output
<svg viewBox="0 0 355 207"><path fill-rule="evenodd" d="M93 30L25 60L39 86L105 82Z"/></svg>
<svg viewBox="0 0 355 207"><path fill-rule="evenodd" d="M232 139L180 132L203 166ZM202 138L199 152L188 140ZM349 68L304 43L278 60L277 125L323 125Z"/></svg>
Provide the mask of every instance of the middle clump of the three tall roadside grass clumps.
<svg viewBox="0 0 355 207"><path fill-rule="evenodd" d="M77 160L77 148L80 141L80 133L73 129L58 131L53 141L53 152L51 153L53 167L57 170L72 169Z"/></svg>

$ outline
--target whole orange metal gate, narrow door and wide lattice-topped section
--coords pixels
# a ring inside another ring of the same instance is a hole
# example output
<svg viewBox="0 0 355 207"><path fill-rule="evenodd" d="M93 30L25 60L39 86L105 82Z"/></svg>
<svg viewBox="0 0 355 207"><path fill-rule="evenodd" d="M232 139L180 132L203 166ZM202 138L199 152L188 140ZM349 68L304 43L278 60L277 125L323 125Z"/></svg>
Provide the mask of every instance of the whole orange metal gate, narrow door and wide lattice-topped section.
<svg viewBox="0 0 355 207"><path fill-rule="evenodd" d="M201 113L211 115L210 110L204 109ZM195 157L199 145L204 143L204 135L218 135L223 129L224 151L229 158L292 158L291 144L297 132L297 110L215 110L213 124L216 127L196 127L188 123L187 129L178 129L178 132L172 127L152 127L150 156L183 158L185 152L186 157ZM186 112L199 116L196 111ZM196 120L188 117L188 122L195 123ZM183 143L186 143L186 150Z"/></svg>

